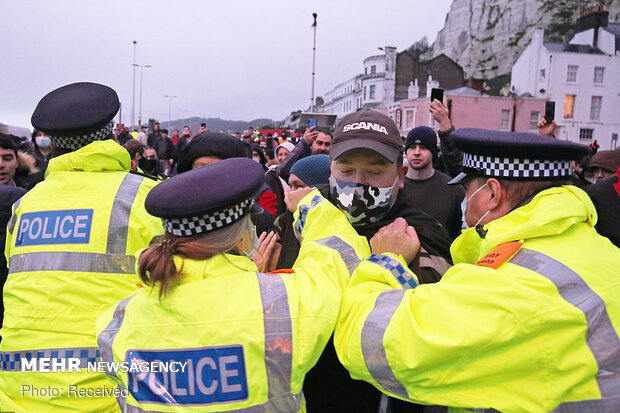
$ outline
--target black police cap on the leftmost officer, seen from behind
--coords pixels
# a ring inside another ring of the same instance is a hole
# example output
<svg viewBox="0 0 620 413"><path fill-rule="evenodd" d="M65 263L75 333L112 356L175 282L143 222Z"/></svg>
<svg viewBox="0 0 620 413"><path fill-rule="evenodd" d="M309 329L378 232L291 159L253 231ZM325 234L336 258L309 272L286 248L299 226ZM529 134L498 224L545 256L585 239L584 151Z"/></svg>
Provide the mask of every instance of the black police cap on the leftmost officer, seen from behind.
<svg viewBox="0 0 620 413"><path fill-rule="evenodd" d="M49 135L55 146L76 149L106 139L119 107L118 95L108 86L72 83L45 95L31 122Z"/></svg>

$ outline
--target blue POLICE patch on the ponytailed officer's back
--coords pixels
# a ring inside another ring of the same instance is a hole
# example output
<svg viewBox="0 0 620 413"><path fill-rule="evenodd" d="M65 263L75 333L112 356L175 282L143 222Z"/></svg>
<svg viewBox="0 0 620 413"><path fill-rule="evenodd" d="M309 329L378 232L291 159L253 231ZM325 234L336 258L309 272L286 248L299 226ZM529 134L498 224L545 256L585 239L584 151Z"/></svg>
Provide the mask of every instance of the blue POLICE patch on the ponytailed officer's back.
<svg viewBox="0 0 620 413"><path fill-rule="evenodd" d="M167 366L128 372L129 391L138 402L196 406L248 398L243 347L239 345L128 350L125 361L129 365L161 362L162 367Z"/></svg>

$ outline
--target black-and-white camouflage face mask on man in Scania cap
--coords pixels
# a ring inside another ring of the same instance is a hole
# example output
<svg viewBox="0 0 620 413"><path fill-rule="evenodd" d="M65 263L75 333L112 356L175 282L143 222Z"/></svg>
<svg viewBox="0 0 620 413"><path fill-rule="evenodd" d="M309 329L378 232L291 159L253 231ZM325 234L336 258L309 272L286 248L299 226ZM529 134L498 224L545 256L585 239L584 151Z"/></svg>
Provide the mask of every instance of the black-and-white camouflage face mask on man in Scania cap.
<svg viewBox="0 0 620 413"><path fill-rule="evenodd" d="M347 216L352 225L371 224L383 219L394 204L394 188L379 188L355 182L340 181L334 177L329 182L331 200Z"/></svg>

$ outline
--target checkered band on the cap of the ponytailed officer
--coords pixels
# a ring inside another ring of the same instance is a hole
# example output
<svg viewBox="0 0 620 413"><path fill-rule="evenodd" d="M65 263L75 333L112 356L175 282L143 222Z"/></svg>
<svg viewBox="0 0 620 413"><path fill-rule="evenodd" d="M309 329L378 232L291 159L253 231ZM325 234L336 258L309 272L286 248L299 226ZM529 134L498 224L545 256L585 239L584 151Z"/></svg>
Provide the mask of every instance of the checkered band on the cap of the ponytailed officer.
<svg viewBox="0 0 620 413"><path fill-rule="evenodd" d="M239 221L249 207L252 206L252 198L234 205L233 207L211 212L199 217L188 218L162 218L164 230L177 237L190 237L192 235L204 234L214 229L222 228Z"/></svg>

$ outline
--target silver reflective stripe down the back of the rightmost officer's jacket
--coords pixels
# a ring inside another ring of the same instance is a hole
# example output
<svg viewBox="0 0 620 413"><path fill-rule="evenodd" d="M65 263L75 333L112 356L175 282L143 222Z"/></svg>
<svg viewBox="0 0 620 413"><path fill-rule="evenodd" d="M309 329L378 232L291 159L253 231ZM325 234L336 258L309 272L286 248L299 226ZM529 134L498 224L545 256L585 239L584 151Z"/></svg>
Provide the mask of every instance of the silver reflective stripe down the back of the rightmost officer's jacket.
<svg viewBox="0 0 620 413"><path fill-rule="evenodd" d="M620 338L605 302L579 274L548 255L522 248L510 262L548 278L562 298L583 311L588 323L586 343L598 364L596 381L601 397L617 398L620 394ZM599 403L602 405L602 400Z"/></svg>

